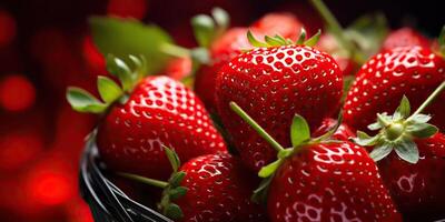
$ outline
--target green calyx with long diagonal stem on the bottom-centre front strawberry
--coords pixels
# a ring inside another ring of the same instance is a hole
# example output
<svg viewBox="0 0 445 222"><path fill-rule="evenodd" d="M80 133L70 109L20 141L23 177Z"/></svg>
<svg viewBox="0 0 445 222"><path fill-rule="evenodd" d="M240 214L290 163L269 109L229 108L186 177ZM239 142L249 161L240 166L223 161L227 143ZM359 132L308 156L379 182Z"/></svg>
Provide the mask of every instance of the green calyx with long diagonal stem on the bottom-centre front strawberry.
<svg viewBox="0 0 445 222"><path fill-rule="evenodd" d="M278 168L285 162L285 160L293 154L299 152L304 147L318 143L332 143L339 142L332 140L330 137L337 131L342 124L342 112L339 114L336 125L334 125L328 132L318 137L310 138L310 129L307 121L299 114L295 114L293 123L290 125L290 148L284 148L280 145L269 133L267 133L254 119L251 119L236 102L229 103L230 109L236 112L245 122L247 122L263 139L265 139L276 151L277 160L263 167L258 176L263 178L259 186L254 191L251 196L254 202L265 203L267 200L269 184L275 175Z"/></svg>

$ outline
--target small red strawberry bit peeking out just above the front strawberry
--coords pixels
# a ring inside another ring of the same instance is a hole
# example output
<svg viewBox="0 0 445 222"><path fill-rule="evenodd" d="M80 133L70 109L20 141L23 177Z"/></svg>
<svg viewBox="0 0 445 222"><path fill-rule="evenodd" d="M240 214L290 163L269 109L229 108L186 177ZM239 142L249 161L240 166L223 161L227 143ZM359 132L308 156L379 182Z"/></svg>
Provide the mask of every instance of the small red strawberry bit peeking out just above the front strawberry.
<svg viewBox="0 0 445 222"><path fill-rule="evenodd" d="M323 134L327 133L330 129L333 129L337 124L337 120L332 118L326 118L323 120L322 125L313 133L313 137L322 137ZM332 135L333 139L336 140L349 140L349 138L354 138L355 133L350 130L348 125L345 123L340 123L338 125L337 131L334 132Z"/></svg>

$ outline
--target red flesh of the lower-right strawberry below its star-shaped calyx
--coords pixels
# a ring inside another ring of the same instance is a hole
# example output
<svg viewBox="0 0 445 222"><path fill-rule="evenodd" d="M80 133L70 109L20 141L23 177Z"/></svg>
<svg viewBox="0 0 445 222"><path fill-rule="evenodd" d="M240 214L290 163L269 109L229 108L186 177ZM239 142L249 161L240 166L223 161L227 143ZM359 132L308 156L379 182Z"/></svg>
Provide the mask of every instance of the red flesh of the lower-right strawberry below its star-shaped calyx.
<svg viewBox="0 0 445 222"><path fill-rule="evenodd" d="M411 164L392 153L378 162L382 178L408 221L433 221L445 216L445 135L415 140L419 161Z"/></svg>

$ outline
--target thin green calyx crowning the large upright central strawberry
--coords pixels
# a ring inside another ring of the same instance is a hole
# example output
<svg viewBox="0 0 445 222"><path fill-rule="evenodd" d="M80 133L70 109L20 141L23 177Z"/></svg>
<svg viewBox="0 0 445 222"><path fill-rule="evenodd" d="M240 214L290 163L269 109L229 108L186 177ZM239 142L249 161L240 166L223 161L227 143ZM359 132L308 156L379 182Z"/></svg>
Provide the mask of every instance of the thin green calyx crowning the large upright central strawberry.
<svg viewBox="0 0 445 222"><path fill-rule="evenodd" d="M314 47L315 44L317 44L320 36L322 36L322 30L318 30L318 32L315 33L313 37L306 39L306 30L301 28L300 36L296 41L293 41L290 39L285 39L279 34L275 34L274 37L265 36L264 38L265 41L261 42L254 37L250 30L247 31L247 40L253 47L256 48L270 48L270 47L293 46L293 44Z"/></svg>

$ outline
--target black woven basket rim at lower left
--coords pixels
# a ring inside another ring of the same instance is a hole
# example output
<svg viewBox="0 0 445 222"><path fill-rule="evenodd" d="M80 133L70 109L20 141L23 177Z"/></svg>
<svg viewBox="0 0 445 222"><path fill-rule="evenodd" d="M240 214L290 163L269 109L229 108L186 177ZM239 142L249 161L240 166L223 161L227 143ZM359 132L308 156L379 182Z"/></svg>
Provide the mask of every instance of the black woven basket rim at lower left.
<svg viewBox="0 0 445 222"><path fill-rule="evenodd" d="M172 222L155 210L127 196L103 174L99 153L93 142L87 142L80 162L79 185L97 222Z"/></svg>

